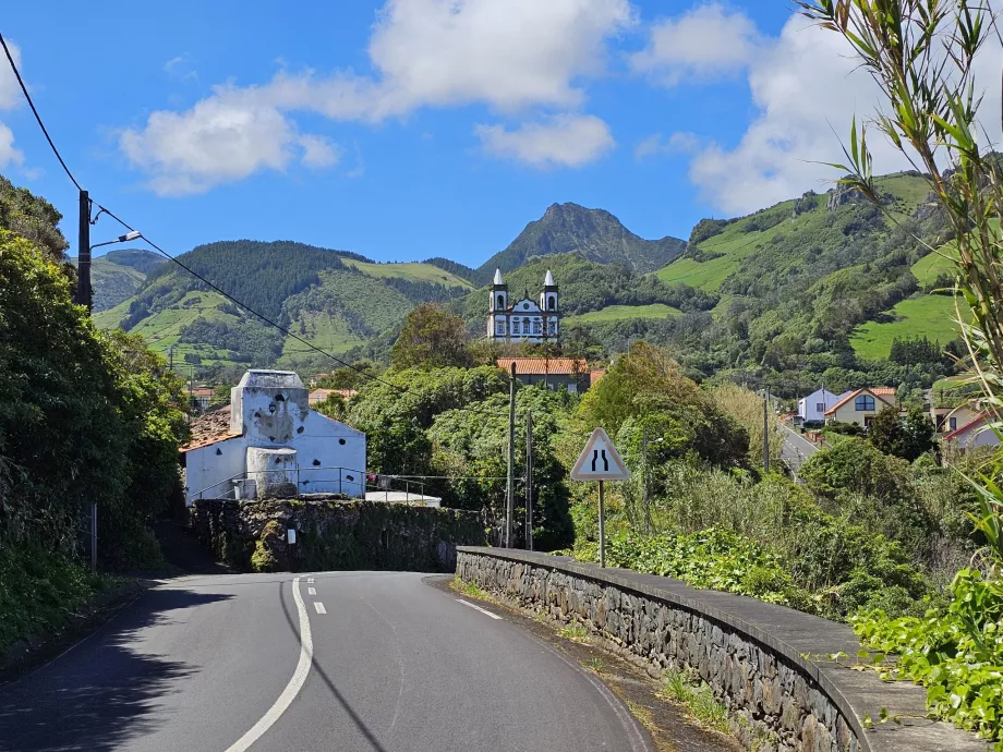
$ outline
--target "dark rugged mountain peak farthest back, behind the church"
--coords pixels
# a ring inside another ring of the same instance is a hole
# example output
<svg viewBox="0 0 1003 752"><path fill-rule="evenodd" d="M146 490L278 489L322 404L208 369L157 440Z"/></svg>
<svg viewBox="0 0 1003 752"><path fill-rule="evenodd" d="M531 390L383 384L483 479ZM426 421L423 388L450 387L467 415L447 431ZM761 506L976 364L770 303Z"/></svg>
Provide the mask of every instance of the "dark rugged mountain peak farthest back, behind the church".
<svg viewBox="0 0 1003 752"><path fill-rule="evenodd" d="M512 243L488 258L478 271L487 281L496 268L516 269L536 256L577 253L599 264L619 264L644 274L669 263L686 247L678 238L643 240L603 209L554 204L530 222Z"/></svg>

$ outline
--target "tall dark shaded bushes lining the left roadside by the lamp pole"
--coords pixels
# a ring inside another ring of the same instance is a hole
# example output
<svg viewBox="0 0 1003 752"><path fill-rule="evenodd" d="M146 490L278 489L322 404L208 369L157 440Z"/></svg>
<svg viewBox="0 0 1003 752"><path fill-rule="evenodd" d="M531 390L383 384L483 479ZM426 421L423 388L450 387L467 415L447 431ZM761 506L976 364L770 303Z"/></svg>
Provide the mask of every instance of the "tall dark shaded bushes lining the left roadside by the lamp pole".
<svg viewBox="0 0 1003 752"><path fill-rule="evenodd" d="M0 190L0 663L110 585L84 567L92 504L100 570L118 572L160 563L149 523L181 499L181 380L73 304L59 219Z"/></svg>

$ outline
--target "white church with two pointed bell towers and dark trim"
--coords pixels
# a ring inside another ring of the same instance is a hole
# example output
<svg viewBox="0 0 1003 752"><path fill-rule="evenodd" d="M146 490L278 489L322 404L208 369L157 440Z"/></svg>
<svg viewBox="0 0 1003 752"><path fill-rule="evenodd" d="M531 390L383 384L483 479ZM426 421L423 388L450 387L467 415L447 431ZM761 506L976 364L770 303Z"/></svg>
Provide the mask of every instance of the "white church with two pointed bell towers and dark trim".
<svg viewBox="0 0 1003 752"><path fill-rule="evenodd" d="M554 275L547 269L540 300L510 301L502 270L495 269L487 311L487 336L496 342L558 342L560 306Z"/></svg>

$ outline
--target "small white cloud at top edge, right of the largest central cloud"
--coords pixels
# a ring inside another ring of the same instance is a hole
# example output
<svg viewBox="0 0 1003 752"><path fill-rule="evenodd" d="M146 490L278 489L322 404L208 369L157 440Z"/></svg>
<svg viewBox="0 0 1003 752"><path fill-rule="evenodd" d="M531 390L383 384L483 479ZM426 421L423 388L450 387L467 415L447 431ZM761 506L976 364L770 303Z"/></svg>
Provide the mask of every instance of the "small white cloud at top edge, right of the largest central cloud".
<svg viewBox="0 0 1003 752"><path fill-rule="evenodd" d="M635 71L667 86L738 73L757 54L756 24L718 3L699 5L651 29L648 46L631 56Z"/></svg>

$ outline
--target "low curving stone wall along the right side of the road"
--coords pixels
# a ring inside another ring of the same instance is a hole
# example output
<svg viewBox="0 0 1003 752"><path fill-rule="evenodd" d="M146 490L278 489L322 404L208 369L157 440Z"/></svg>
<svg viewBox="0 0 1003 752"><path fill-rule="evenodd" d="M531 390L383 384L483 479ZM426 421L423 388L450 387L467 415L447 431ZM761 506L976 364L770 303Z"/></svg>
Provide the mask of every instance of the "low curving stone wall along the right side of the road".
<svg viewBox="0 0 1003 752"><path fill-rule="evenodd" d="M987 743L926 720L925 691L881 682L824 656L856 656L853 631L752 598L567 557L458 549L457 575L536 614L582 624L652 675L699 676L747 748L783 752L984 752ZM902 723L865 730L885 707Z"/></svg>

